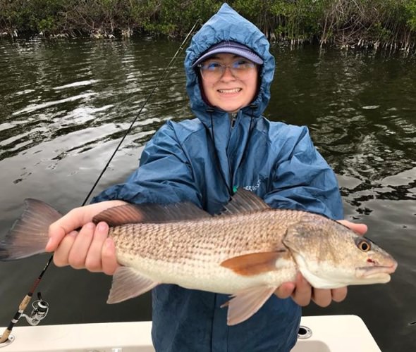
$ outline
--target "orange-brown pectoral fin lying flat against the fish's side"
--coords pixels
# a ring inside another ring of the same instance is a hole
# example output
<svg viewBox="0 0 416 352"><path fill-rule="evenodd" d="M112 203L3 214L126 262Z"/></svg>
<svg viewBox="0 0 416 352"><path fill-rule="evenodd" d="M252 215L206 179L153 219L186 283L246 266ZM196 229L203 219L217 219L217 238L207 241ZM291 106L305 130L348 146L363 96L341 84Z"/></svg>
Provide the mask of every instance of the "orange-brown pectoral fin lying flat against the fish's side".
<svg viewBox="0 0 416 352"><path fill-rule="evenodd" d="M286 253L286 249L273 252L250 253L224 260L220 265L233 270L233 272L239 275L258 275L262 274L262 272L276 270L276 260L283 253Z"/></svg>

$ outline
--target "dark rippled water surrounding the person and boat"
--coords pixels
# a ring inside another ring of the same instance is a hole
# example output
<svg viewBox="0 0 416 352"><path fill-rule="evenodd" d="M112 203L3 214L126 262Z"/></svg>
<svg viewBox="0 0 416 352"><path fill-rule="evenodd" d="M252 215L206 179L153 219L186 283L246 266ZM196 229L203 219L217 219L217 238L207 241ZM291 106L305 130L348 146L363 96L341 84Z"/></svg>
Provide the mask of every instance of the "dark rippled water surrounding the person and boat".
<svg viewBox="0 0 416 352"><path fill-rule="evenodd" d="M0 227L23 199L61 211L79 206L179 43L73 40L0 42ZM305 315L356 314L382 351L415 351L415 58L275 47L271 120L308 125L338 175L345 217L398 259L386 285L350 287L343 303ZM123 180L165 120L190 117L181 56L159 85L97 191ZM0 263L0 325L47 256ZM149 295L107 306L111 277L51 267L39 287L51 305L44 324L149 320ZM20 322L23 324L23 321Z"/></svg>

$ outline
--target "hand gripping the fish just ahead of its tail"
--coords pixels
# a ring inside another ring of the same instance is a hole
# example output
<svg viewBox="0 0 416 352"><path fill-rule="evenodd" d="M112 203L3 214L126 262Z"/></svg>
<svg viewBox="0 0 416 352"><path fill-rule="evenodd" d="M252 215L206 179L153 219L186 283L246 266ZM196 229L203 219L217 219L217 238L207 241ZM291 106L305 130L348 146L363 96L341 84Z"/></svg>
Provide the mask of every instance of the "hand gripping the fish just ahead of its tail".
<svg viewBox="0 0 416 352"><path fill-rule="evenodd" d="M55 252L55 265L112 275L118 263L114 241L107 238L109 227L105 222L94 225L91 221L102 210L122 204L125 202L106 201L75 208L54 222L49 227L46 251Z"/></svg>

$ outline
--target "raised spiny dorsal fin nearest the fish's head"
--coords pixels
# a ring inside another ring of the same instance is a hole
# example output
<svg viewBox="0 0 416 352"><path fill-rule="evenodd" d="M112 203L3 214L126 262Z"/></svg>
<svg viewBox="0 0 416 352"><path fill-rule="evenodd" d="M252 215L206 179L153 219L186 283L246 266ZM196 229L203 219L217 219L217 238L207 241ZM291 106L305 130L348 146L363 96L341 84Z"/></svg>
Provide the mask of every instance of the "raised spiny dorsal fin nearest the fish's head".
<svg viewBox="0 0 416 352"><path fill-rule="evenodd" d="M231 200L224 206L220 215L232 215L239 213L251 213L253 211L270 209L267 203L256 194L239 188L237 192L231 196Z"/></svg>

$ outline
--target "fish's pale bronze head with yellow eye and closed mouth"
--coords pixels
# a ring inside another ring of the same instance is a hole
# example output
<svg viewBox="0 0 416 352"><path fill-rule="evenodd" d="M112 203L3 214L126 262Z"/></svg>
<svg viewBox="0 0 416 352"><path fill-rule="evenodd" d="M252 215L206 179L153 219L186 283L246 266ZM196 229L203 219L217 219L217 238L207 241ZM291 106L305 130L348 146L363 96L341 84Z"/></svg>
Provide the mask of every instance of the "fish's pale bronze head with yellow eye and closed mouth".
<svg viewBox="0 0 416 352"><path fill-rule="evenodd" d="M397 268L396 260L373 241L326 218L291 226L283 244L315 288L386 283Z"/></svg>

